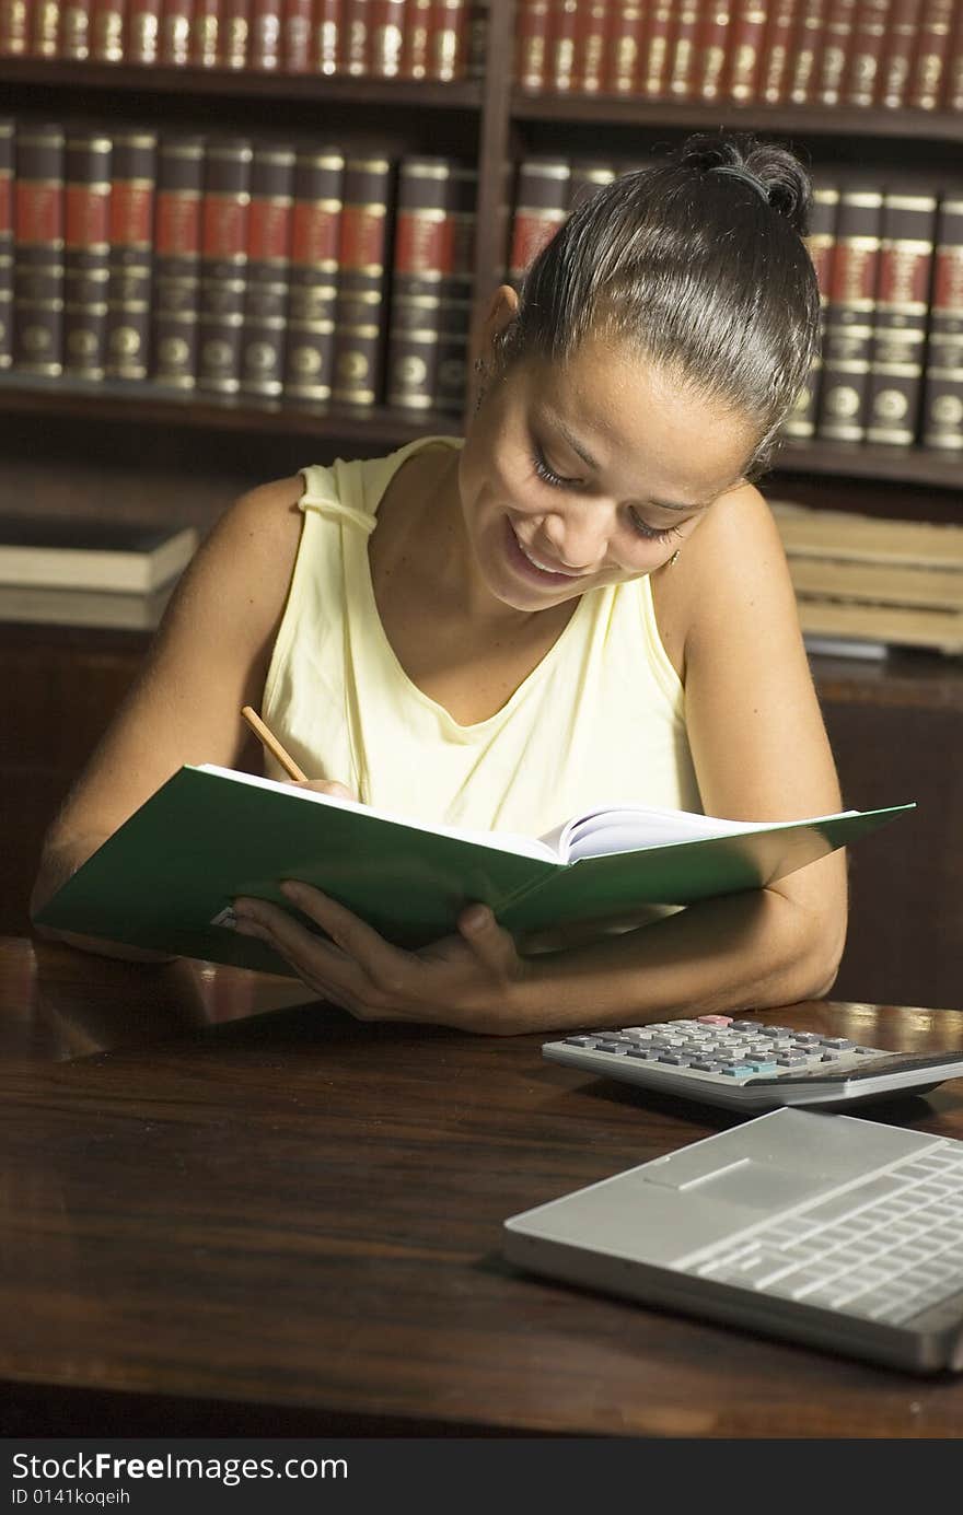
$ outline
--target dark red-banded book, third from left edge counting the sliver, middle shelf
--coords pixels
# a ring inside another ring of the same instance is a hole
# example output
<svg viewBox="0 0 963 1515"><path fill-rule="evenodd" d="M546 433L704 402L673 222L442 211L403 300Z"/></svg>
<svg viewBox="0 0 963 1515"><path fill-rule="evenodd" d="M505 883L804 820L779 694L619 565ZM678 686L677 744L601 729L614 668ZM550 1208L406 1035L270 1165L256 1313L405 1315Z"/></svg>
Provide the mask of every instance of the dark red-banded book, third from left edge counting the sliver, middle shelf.
<svg viewBox="0 0 963 1515"><path fill-rule="evenodd" d="M71 132L64 153L64 371L103 379L111 277L111 138Z"/></svg>

